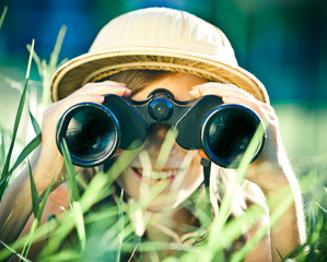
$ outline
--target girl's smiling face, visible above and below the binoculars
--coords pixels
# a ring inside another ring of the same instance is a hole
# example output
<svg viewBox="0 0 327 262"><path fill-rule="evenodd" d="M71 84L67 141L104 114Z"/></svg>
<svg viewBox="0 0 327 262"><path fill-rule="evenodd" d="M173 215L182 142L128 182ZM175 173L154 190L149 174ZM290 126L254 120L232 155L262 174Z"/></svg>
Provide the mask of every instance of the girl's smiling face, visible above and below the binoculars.
<svg viewBox="0 0 327 262"><path fill-rule="evenodd" d="M178 100L189 100L194 98L189 91L194 85L206 83L207 81L192 75L173 75L168 78L160 79L149 84L145 88L138 92L132 98L136 100L144 100L148 95L156 90L164 87L171 91L175 98ZM178 88L176 88L178 86ZM151 166L156 171L177 171L183 163L184 158L188 154L188 151L174 143L171 154L167 156L167 160L164 167L155 166L159 152L163 141L166 138L170 127L163 123L155 123L151 127L147 141L144 143L144 151L149 153ZM166 183L163 192L157 194L148 205L149 210L160 211L163 209L174 209L185 201L202 182L202 168L200 166L201 157L198 154L194 154L191 165L188 167L185 175L178 174L174 180L167 178L162 179L162 182ZM136 158L131 165L122 172L118 178L118 183L125 189L131 198L139 200L142 195L140 189L144 189L142 183L148 183L149 190L156 183L153 179L147 179L136 174L135 168L141 169L142 164L140 158ZM180 178L180 179L179 179ZM178 187L183 190L174 190L172 188Z"/></svg>

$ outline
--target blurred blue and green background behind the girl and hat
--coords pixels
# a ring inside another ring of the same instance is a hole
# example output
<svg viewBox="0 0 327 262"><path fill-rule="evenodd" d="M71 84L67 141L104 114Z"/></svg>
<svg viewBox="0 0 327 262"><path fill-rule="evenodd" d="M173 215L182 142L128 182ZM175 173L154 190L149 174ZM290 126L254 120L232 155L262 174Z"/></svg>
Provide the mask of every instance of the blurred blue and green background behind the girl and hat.
<svg viewBox="0 0 327 262"><path fill-rule="evenodd" d="M0 0L0 12L4 5L8 13L0 29L0 121L4 129L12 128L20 95L12 87L24 82L26 44L33 38L37 55L48 60L58 32L66 25L60 60L73 58L87 51L98 29L110 19L140 8L170 7L219 26L230 38L240 66L266 85L296 172L325 169L327 1ZM42 84L35 64L31 80L36 97ZM31 103L30 107L33 110L36 105Z"/></svg>

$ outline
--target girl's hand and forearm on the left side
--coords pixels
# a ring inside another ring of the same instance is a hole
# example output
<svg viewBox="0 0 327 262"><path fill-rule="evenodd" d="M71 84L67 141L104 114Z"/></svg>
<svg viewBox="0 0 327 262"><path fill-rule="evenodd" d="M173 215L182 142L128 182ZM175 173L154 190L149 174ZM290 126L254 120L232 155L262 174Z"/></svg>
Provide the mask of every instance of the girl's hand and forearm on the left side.
<svg viewBox="0 0 327 262"><path fill-rule="evenodd" d="M61 115L72 105L82 102L103 103L105 94L130 95L124 84L102 82L86 84L67 98L54 103L44 114L42 145L34 152L31 166L38 194L42 196L54 179L54 189L62 181L63 158L56 145L56 127ZM10 184L0 202L0 239L11 243L24 228L32 214L30 170L26 167Z"/></svg>

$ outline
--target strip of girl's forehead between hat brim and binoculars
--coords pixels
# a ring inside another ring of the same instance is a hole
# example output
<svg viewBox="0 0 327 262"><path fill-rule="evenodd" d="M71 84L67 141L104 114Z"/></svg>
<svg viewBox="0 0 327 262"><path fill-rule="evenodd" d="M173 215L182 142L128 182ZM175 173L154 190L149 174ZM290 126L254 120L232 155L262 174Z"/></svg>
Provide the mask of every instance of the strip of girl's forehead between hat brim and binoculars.
<svg viewBox="0 0 327 262"><path fill-rule="evenodd" d="M147 99L148 95L157 88L165 88L172 92L178 100L189 100L194 98L188 92L192 86L208 82L206 79L191 74L168 74L151 82L140 92L132 96L136 100Z"/></svg>

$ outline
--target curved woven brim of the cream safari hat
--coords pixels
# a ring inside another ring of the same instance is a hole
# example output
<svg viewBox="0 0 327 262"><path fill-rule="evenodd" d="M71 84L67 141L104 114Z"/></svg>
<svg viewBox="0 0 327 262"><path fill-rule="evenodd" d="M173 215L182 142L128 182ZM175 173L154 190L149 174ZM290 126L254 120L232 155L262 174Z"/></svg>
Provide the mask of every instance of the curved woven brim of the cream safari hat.
<svg viewBox="0 0 327 262"><path fill-rule="evenodd" d="M94 82L102 74L115 74L130 69L166 70L235 84L257 99L269 104L262 83L240 67L229 66L203 53L143 46L89 52L66 62L52 78L51 99L60 100L87 82Z"/></svg>

